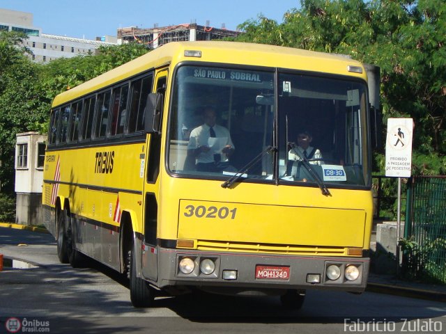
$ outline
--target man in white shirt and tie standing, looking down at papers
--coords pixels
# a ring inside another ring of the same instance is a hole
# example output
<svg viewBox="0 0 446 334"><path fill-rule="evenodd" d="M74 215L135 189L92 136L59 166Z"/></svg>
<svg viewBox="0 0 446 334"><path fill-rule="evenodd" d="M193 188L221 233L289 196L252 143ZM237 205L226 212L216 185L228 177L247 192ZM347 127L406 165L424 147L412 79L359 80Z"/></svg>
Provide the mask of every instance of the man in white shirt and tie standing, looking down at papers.
<svg viewBox="0 0 446 334"><path fill-rule="evenodd" d="M194 157L198 171L221 173L233 169L228 159L234 151L231 134L215 123L216 118L213 108L204 109L204 124L190 132L187 156Z"/></svg>

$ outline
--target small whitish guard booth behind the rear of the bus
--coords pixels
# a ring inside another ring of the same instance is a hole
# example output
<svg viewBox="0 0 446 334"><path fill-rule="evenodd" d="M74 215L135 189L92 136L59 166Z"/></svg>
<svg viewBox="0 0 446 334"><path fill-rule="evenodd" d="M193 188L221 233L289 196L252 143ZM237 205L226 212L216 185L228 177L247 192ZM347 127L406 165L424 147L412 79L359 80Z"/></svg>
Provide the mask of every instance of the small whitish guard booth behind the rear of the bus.
<svg viewBox="0 0 446 334"><path fill-rule="evenodd" d="M42 221L42 182L47 136L38 132L16 134L15 223L40 225Z"/></svg>

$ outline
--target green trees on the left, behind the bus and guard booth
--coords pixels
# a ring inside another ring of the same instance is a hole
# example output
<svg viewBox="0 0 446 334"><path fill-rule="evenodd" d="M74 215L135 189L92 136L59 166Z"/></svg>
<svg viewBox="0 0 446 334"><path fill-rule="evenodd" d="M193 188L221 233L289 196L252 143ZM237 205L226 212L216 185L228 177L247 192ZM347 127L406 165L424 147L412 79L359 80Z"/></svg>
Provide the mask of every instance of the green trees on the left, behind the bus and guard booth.
<svg viewBox="0 0 446 334"><path fill-rule="evenodd" d="M26 35L0 31L0 181L14 193L15 134L46 133L54 97L148 51L143 45L101 47L98 54L31 62L21 47Z"/></svg>

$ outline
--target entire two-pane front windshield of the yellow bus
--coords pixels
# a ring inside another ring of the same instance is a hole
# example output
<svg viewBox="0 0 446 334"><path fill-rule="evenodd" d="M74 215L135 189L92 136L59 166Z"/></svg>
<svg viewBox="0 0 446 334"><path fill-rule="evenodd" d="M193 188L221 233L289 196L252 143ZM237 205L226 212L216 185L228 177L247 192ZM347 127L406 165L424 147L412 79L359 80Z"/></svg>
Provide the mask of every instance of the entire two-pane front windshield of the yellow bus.
<svg viewBox="0 0 446 334"><path fill-rule="evenodd" d="M276 79L275 69L183 65L172 96L170 173L369 185L362 81L280 71Z"/></svg>

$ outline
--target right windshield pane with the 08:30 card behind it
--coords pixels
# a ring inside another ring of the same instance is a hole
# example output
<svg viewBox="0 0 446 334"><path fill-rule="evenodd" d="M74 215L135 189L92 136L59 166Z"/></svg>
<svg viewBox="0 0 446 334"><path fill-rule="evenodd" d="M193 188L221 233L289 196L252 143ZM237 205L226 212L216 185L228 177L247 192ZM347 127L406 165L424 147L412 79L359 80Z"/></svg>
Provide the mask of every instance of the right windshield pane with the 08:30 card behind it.
<svg viewBox="0 0 446 334"><path fill-rule="evenodd" d="M279 178L369 184L366 105L364 84L279 74Z"/></svg>

